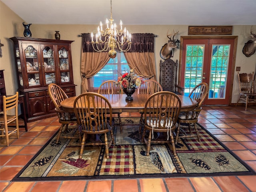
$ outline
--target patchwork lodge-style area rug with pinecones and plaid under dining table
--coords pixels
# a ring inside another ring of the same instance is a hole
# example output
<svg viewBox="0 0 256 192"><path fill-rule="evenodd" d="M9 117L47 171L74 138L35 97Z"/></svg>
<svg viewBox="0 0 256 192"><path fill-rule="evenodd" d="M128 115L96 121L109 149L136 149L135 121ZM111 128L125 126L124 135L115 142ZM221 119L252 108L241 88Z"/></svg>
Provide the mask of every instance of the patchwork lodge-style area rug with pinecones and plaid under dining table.
<svg viewBox="0 0 256 192"><path fill-rule="evenodd" d="M110 147L109 159L104 146L86 146L80 160L79 140L62 139L56 144L54 136L12 181L256 174L199 125L201 142L182 138L176 157L170 144L152 145L150 156L146 156L146 145L140 143L138 133L139 118L122 118L122 122L122 134L115 126L116 145Z"/></svg>

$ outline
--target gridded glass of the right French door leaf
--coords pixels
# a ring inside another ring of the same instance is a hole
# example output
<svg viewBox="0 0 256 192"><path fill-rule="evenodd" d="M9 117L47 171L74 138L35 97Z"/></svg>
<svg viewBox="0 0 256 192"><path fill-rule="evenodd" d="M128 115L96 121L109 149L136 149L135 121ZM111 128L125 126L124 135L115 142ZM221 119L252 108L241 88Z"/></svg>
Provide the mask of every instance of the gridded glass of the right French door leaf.
<svg viewBox="0 0 256 192"><path fill-rule="evenodd" d="M225 99L230 45L212 45L208 99Z"/></svg>

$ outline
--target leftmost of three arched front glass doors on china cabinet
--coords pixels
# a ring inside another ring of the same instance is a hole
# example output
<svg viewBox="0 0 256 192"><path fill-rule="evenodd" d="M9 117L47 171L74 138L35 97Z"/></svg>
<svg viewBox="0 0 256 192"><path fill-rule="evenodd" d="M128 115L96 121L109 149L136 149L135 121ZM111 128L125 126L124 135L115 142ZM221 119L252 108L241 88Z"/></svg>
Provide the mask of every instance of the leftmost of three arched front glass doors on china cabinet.
<svg viewBox="0 0 256 192"><path fill-rule="evenodd" d="M25 45L25 44L24 44ZM26 44L25 60L28 74L28 86L40 85L39 66L38 66L38 47L36 44ZM24 80L23 80L24 83Z"/></svg>

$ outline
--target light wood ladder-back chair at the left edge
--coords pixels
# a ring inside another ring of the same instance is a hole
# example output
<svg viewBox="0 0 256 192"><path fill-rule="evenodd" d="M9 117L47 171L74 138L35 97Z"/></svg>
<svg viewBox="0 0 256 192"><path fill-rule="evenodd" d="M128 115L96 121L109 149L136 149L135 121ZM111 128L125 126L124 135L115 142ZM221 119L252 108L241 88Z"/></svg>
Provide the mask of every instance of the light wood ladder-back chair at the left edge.
<svg viewBox="0 0 256 192"><path fill-rule="evenodd" d="M3 96L3 114L0 114L0 137L5 137L7 146L9 146L9 136L11 134L16 133L17 138L19 138L18 97L18 92L13 96ZM8 127L8 124L14 121L16 127Z"/></svg>

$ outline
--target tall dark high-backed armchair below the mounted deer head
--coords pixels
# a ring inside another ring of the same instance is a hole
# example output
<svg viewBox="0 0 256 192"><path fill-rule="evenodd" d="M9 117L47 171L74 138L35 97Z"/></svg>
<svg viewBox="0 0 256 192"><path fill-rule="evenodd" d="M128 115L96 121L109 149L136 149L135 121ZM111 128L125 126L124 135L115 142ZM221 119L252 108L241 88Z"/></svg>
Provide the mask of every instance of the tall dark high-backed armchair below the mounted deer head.
<svg viewBox="0 0 256 192"><path fill-rule="evenodd" d="M178 60L176 60L176 62L171 59L166 59L164 62L160 60L159 82L162 85L164 91L170 91L179 95L184 95L184 88L177 84L177 69Z"/></svg>

